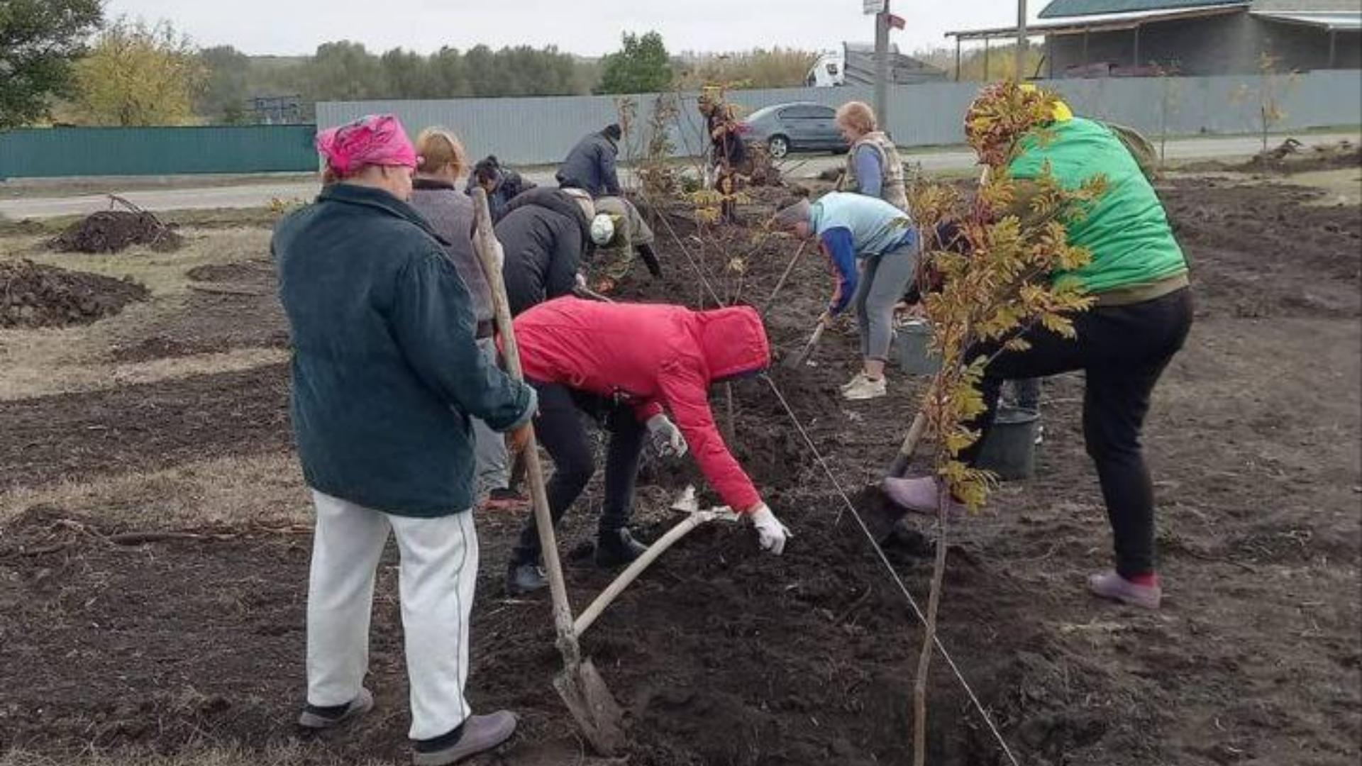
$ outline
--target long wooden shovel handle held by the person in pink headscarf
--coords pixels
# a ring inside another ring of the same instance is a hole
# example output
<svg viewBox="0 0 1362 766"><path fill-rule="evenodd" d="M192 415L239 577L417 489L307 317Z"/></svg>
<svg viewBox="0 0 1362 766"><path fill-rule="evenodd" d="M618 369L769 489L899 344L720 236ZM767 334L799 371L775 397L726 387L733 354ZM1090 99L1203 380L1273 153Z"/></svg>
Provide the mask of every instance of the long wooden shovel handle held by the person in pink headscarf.
<svg viewBox="0 0 1362 766"><path fill-rule="evenodd" d="M516 380L524 380L520 368L520 349L515 341L515 326L511 323L511 305L507 303L507 286L501 275L501 243L492 229L492 211L488 207L488 194L473 189L473 213L475 221L473 247L482 262L488 285L492 288L492 304L496 307L497 333L501 334L501 356L507 371ZM577 635L572 628L572 607L568 604L568 586L563 579L563 563L558 560L558 540L553 532L553 514L549 512L549 495L543 487L543 466L539 463L539 444L534 428L522 455L526 474L530 480L530 502L534 504L534 523L539 532L539 549L543 555L543 568L549 574L549 593L553 596L553 623L558 631L558 645L569 664L580 661Z"/></svg>

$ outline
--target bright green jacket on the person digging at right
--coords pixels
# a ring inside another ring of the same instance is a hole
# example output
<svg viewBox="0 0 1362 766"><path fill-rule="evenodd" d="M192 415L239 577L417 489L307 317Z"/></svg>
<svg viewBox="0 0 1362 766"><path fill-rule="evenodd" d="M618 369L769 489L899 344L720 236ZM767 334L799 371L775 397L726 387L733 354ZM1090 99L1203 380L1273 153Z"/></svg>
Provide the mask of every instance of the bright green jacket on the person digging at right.
<svg viewBox="0 0 1362 766"><path fill-rule="evenodd" d="M1054 278L1075 277L1088 293L1099 294L1186 274L1186 259L1163 204L1115 134L1081 117L1054 123L1046 131L1049 140L1022 140L1008 166L1013 179L1034 180L1046 162L1064 188L1077 188L1098 174L1107 179L1107 192L1088 214L1065 224L1069 243L1088 248L1092 262Z"/></svg>

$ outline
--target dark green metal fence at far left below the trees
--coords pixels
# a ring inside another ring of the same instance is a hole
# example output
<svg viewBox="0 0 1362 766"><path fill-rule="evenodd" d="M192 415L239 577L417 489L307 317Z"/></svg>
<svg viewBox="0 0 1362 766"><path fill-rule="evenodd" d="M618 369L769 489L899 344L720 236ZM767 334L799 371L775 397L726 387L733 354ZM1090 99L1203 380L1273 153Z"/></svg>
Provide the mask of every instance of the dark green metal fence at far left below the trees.
<svg viewBox="0 0 1362 766"><path fill-rule="evenodd" d="M0 131L0 179L315 170L315 125Z"/></svg>

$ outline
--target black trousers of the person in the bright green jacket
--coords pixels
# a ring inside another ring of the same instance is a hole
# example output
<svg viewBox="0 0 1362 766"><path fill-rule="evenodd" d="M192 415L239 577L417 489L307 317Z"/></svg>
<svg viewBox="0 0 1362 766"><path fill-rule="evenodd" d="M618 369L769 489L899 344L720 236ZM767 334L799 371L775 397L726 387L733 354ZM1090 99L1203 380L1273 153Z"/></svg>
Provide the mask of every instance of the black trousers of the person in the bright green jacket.
<svg viewBox="0 0 1362 766"><path fill-rule="evenodd" d="M987 412L971 428L982 433L960 458L972 463L993 424L1002 382L1084 371L1083 439L1098 468L1102 497L1115 538L1115 568L1124 577L1154 571L1154 484L1140 451L1150 394L1192 327L1186 288L1145 303L1095 307L1073 319L1079 337L1045 330L1024 337L1031 348L1002 352L983 375ZM970 353L996 350L979 348Z"/></svg>

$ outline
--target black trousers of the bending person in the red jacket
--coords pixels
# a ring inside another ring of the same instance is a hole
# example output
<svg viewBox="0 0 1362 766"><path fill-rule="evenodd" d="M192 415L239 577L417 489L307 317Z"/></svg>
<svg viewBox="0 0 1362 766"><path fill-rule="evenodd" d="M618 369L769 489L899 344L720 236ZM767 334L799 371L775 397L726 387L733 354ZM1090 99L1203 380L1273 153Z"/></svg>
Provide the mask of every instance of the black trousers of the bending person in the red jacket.
<svg viewBox="0 0 1362 766"><path fill-rule="evenodd" d="M587 439L584 414L602 423L610 432L610 446L605 459L605 507L601 511L601 533L624 529L633 510L633 481L639 474L646 427L639 423L633 408L617 405L603 397L568 388L558 383L530 382L539 394L539 414L534 432L553 458L553 478L549 480L549 511L553 525L568 512L591 476L595 458ZM539 532L534 515L520 530L515 548L516 562L528 563L539 557Z"/></svg>

